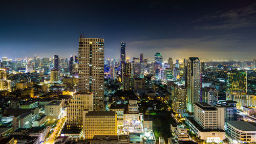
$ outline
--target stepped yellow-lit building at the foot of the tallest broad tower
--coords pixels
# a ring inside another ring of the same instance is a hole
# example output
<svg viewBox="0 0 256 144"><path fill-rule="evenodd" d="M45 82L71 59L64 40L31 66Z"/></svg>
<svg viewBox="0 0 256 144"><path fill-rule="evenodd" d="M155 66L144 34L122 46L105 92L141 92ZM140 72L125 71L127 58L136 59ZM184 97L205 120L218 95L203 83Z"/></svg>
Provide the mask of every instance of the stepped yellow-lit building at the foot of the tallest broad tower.
<svg viewBox="0 0 256 144"><path fill-rule="evenodd" d="M69 100L67 108L67 127L82 126L82 111L84 109L93 110L93 94L83 93L74 94Z"/></svg>

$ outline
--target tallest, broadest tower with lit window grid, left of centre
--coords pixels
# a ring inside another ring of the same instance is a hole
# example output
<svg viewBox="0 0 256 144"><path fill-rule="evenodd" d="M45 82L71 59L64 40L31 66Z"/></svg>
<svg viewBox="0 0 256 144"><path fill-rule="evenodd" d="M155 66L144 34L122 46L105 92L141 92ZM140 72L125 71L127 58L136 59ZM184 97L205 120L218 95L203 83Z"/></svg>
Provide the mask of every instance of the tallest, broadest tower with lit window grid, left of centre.
<svg viewBox="0 0 256 144"><path fill-rule="evenodd" d="M104 39L80 36L78 62L78 92L93 93L94 110L103 111Z"/></svg>

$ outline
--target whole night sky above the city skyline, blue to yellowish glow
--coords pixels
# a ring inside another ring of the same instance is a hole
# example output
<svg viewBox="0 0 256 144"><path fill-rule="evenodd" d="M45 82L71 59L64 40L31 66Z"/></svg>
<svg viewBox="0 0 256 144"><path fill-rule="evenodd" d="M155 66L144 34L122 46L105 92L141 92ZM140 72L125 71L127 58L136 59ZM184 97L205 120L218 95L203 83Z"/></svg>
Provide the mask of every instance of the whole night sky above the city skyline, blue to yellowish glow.
<svg viewBox="0 0 256 144"><path fill-rule="evenodd" d="M79 31L105 39L105 57L256 58L255 1L0 0L0 59L69 57Z"/></svg>

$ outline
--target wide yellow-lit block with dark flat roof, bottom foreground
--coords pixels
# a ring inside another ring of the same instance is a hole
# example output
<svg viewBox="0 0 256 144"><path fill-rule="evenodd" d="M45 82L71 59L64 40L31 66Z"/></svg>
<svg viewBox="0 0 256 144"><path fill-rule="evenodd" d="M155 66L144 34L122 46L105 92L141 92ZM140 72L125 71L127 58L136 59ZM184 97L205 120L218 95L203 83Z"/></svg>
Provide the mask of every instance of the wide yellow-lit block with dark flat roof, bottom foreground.
<svg viewBox="0 0 256 144"><path fill-rule="evenodd" d="M117 114L115 111L83 111L83 138L94 135L117 135Z"/></svg>

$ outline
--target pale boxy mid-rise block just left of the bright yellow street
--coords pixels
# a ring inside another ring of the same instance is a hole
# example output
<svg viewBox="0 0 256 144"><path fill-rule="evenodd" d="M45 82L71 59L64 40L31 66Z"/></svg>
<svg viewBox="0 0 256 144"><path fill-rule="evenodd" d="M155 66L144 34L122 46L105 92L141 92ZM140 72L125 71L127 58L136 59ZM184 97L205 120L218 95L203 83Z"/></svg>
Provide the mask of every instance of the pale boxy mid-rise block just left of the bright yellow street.
<svg viewBox="0 0 256 144"><path fill-rule="evenodd" d="M45 114L50 120L60 119L61 110L61 101L52 101L45 106Z"/></svg>

